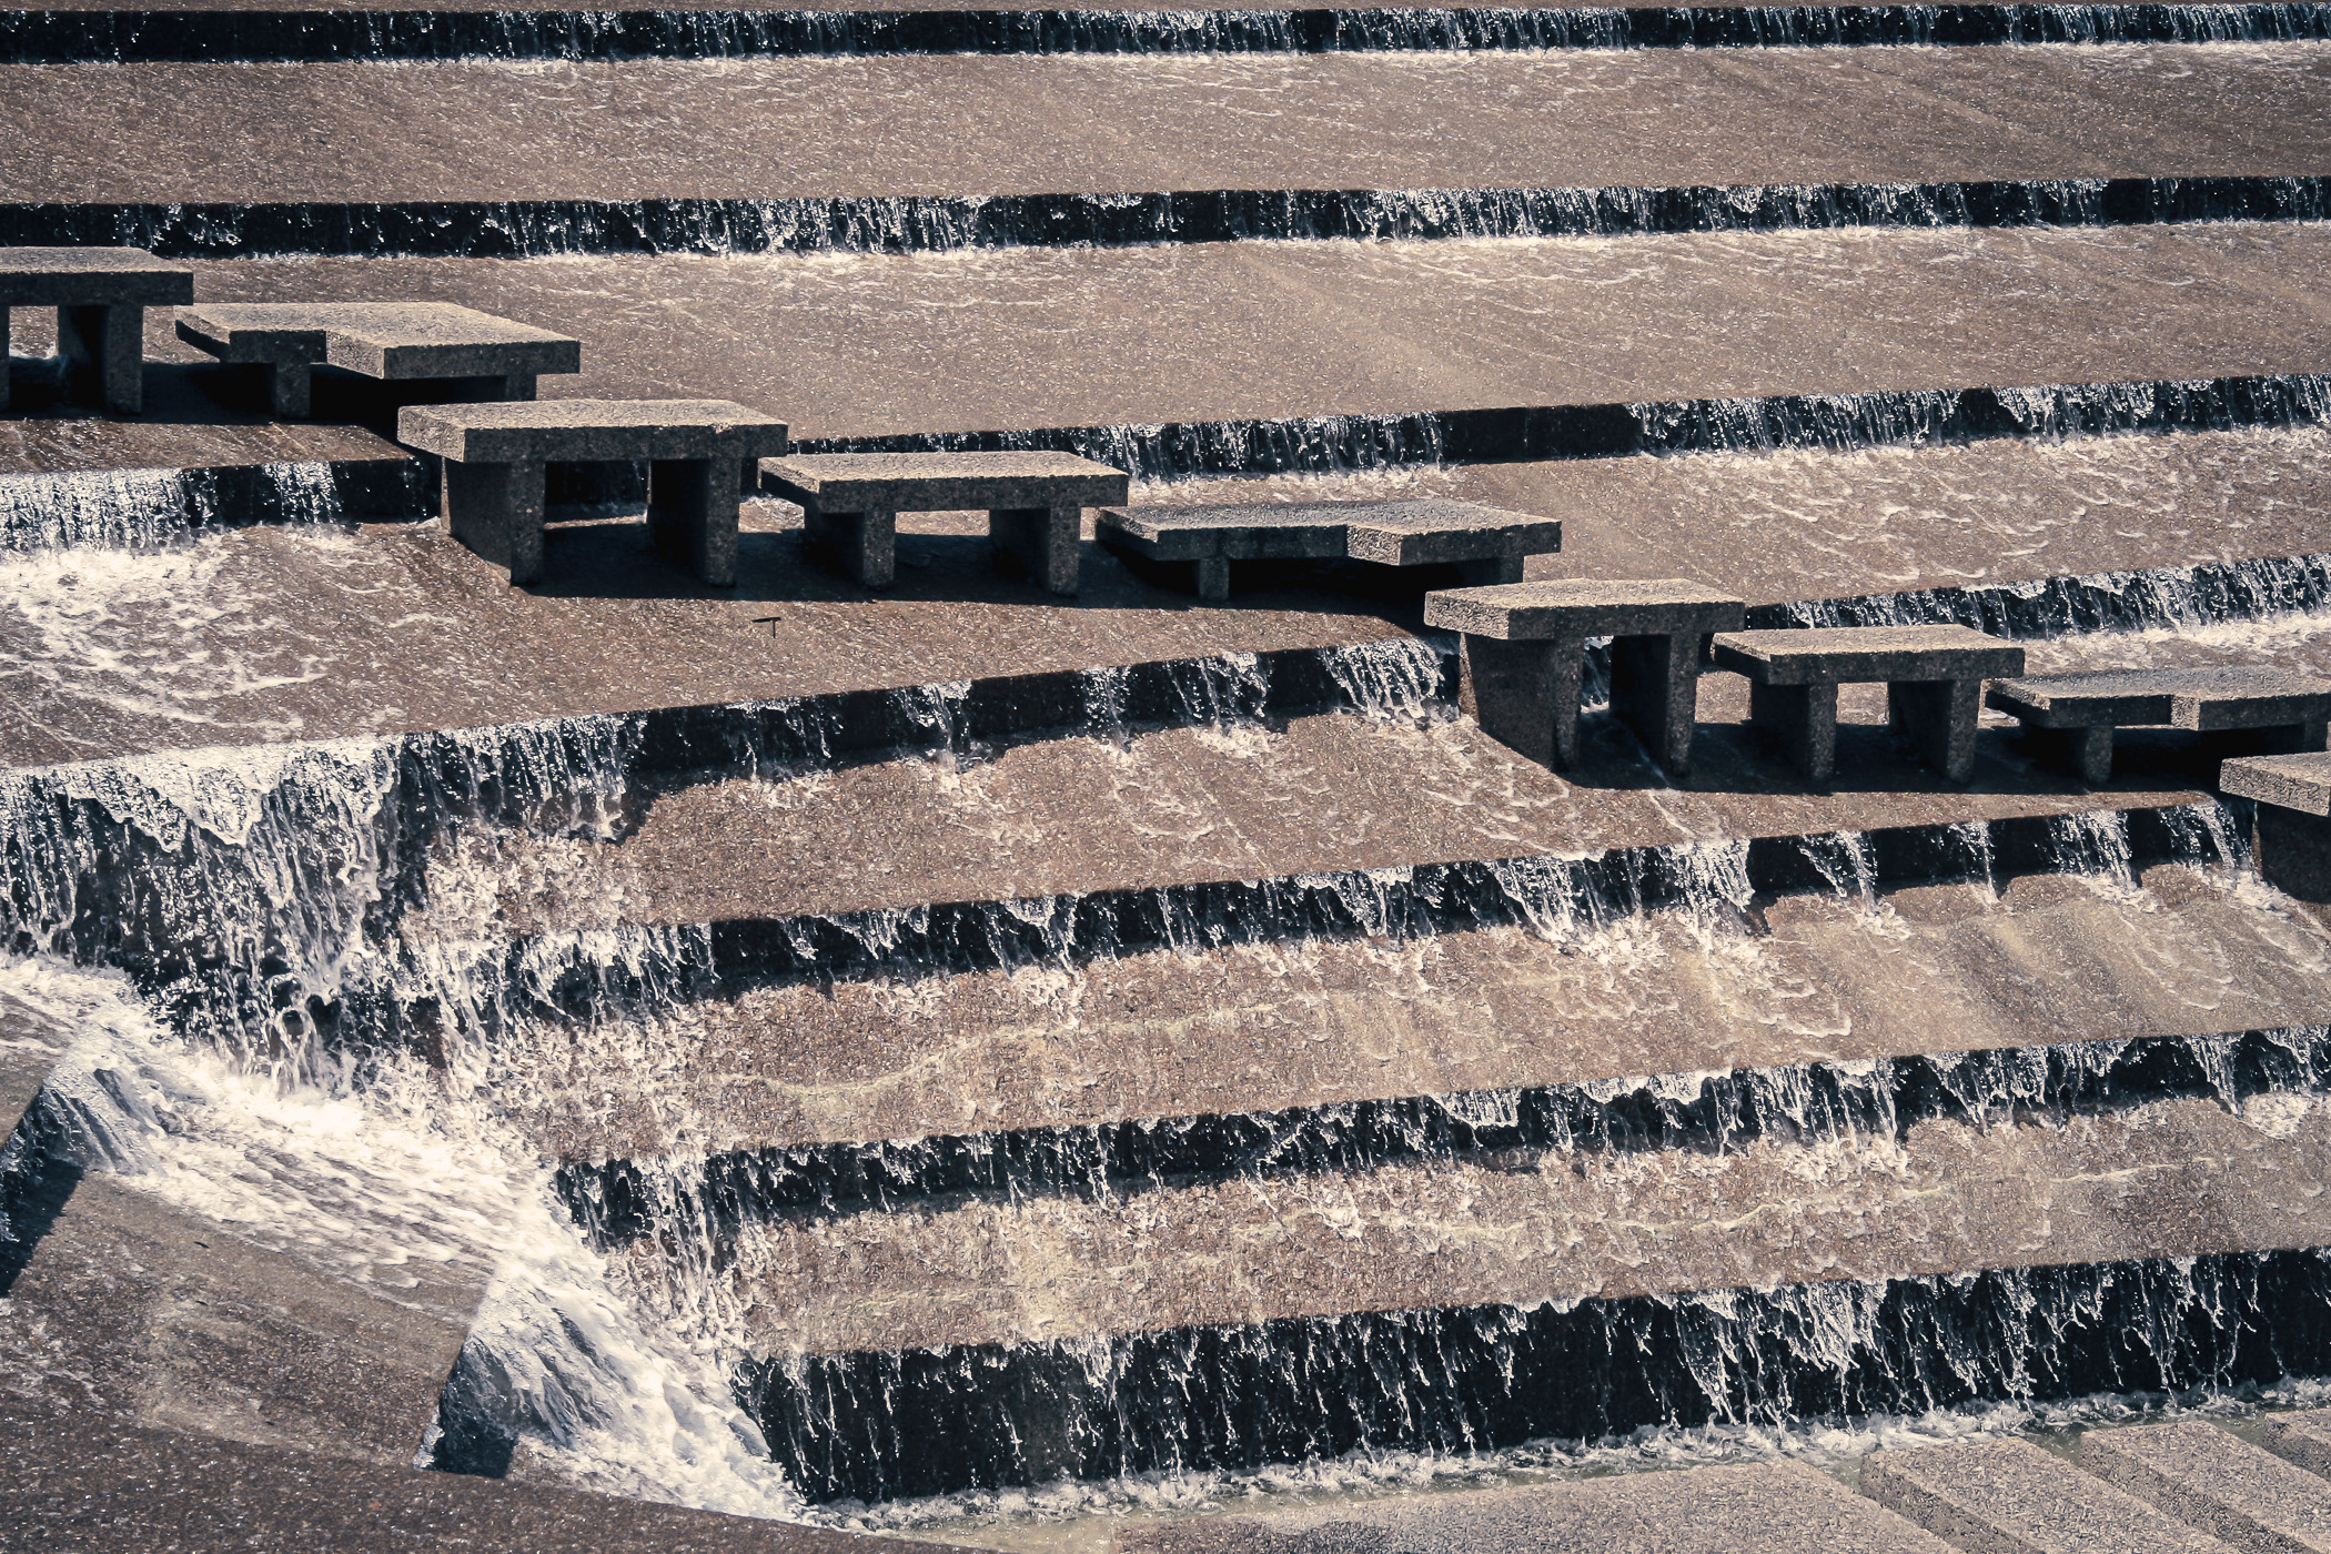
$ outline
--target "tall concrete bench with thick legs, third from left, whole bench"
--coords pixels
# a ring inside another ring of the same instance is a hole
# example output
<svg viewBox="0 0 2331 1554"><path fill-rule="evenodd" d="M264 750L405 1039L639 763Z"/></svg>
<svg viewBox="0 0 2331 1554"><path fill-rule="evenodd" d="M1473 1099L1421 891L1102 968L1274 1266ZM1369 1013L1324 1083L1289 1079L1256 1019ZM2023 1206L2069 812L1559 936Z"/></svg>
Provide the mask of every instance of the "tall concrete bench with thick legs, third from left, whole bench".
<svg viewBox="0 0 2331 1554"><path fill-rule="evenodd" d="M704 582L737 580L737 471L783 452L786 422L725 398L559 398L406 405L396 440L445 461L445 527L510 568L543 578L543 466L648 464L655 550Z"/></svg>

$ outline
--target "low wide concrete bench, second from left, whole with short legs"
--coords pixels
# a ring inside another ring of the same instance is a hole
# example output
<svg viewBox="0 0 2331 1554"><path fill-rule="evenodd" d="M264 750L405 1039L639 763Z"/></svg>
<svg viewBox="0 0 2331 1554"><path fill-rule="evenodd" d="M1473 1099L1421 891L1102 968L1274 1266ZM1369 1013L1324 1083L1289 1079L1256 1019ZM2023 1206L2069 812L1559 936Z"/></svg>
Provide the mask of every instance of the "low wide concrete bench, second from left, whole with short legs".
<svg viewBox="0 0 2331 1554"><path fill-rule="evenodd" d="M476 398L534 398L541 373L580 373L583 345L455 303L214 303L177 310L177 338L266 368L268 408L305 417L315 363L382 382L466 380Z"/></svg>

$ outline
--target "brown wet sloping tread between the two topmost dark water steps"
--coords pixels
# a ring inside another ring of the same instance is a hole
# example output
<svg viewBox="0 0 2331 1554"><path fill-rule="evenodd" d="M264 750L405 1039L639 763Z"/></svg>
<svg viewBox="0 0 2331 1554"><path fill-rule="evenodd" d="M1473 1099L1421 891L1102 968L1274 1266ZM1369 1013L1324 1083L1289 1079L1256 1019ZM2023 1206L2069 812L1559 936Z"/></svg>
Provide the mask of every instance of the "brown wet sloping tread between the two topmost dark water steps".
<svg viewBox="0 0 2331 1554"><path fill-rule="evenodd" d="M2331 44L14 65L0 200L2322 175L2326 112Z"/></svg>

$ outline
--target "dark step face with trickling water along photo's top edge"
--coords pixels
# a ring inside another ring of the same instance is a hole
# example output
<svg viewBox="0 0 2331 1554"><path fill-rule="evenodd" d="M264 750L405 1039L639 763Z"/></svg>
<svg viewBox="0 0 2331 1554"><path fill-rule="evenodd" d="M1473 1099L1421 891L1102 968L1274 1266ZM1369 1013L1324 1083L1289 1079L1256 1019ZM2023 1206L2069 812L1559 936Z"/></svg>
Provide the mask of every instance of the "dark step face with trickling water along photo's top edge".
<svg viewBox="0 0 2331 1554"><path fill-rule="evenodd" d="M2331 37L2326 5L1685 5L1296 12L0 12L0 63L739 58L823 54L1345 54Z"/></svg>

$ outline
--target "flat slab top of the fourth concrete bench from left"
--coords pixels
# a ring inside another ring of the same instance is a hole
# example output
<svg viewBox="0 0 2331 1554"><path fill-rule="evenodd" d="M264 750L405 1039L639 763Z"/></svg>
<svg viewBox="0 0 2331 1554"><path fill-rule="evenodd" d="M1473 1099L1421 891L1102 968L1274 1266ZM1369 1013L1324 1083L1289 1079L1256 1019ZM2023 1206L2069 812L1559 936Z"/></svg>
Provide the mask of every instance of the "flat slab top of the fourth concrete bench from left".
<svg viewBox="0 0 2331 1554"><path fill-rule="evenodd" d="M1124 501L1131 478L1107 464L1051 450L995 454L795 454L762 459L762 489L828 513L890 508L974 513L979 508L1079 508Z"/></svg>

